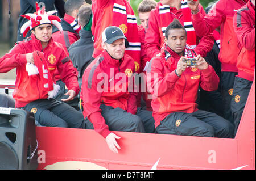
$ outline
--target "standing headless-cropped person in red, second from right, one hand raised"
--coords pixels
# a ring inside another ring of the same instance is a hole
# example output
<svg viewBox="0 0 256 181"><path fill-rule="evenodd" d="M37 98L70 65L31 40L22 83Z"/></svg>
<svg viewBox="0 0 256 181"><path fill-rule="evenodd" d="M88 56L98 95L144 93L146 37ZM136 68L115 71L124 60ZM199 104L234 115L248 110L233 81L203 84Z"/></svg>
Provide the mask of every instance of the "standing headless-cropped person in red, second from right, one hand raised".
<svg viewBox="0 0 256 181"><path fill-rule="evenodd" d="M197 36L205 36L221 27L221 94L224 105L224 118L233 123L230 102L233 94L234 78L237 75L237 57L240 49L233 28L233 16L248 0L220 0L214 4L207 15L200 12L199 0L188 3L192 12L192 22Z"/></svg>

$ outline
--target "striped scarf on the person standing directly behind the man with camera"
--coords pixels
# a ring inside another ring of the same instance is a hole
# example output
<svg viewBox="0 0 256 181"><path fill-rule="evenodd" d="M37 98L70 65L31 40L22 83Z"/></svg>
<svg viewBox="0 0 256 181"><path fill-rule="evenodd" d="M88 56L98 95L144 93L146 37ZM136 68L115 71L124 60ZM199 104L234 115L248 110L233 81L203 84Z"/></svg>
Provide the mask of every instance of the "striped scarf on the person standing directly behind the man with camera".
<svg viewBox="0 0 256 181"><path fill-rule="evenodd" d="M192 24L191 17L191 9L189 9L187 5L187 0L181 0L181 11L184 17L183 26L187 31L187 44L191 45L191 48L196 47L196 32ZM160 35L161 35L161 45L164 42L164 36L166 33L167 26L174 20L171 14L173 14L170 10L169 5L162 5L160 3L159 6L159 14L160 14ZM176 16L176 15L175 15ZM176 17L179 20L179 18ZM182 24L182 22L180 22Z"/></svg>

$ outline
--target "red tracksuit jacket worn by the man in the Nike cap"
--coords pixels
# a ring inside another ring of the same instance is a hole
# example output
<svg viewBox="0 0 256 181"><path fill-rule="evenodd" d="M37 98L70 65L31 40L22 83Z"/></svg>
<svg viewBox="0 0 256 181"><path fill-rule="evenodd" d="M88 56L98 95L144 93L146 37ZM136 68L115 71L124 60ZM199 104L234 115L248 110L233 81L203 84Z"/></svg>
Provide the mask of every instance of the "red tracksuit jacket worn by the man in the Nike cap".
<svg viewBox="0 0 256 181"><path fill-rule="evenodd" d="M101 115L101 104L119 107L133 114L137 111L137 93L128 91L129 78L132 78L134 72L134 60L129 55L125 54L119 61L104 50L86 68L82 76L81 99L84 117L88 117L93 123L94 130L104 138L110 131ZM118 90L117 87L122 87L123 90Z"/></svg>

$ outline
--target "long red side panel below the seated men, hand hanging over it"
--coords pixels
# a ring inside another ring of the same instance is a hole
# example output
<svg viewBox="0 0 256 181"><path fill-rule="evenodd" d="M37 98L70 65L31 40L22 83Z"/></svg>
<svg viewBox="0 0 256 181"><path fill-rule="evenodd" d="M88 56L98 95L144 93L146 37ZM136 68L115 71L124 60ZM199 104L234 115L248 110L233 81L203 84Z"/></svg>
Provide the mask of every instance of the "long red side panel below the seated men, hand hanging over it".
<svg viewBox="0 0 256 181"><path fill-rule="evenodd" d="M114 154L104 138L93 130L37 127L39 150L46 163L86 161L107 169L151 169L160 158L158 169L233 169L237 166L234 139L115 132L121 150ZM215 155L215 160L214 158Z"/></svg>

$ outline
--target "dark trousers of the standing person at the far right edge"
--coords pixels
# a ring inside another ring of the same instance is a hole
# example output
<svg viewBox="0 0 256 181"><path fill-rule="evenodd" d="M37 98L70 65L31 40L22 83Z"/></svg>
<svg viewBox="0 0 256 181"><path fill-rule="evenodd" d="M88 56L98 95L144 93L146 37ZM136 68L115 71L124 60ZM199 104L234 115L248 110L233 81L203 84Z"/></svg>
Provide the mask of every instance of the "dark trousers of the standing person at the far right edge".
<svg viewBox="0 0 256 181"><path fill-rule="evenodd" d="M252 81L248 81L244 78L236 77L235 79L233 98L231 100L231 111L234 117L234 136L236 136L237 128L252 84Z"/></svg>

